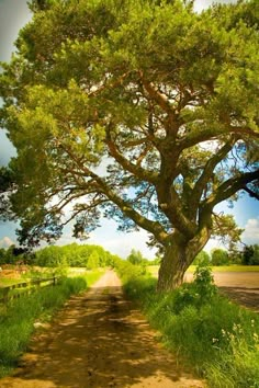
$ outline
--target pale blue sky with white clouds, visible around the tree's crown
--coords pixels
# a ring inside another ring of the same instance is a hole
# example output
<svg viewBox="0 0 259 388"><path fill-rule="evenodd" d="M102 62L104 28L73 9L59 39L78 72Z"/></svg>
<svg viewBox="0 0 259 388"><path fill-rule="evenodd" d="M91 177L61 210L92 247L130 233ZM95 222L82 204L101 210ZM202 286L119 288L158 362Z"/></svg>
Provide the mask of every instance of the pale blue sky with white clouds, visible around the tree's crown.
<svg viewBox="0 0 259 388"><path fill-rule="evenodd" d="M0 0L0 61L9 61L11 53L15 50L13 43L18 37L20 28L26 24L31 14L26 5L27 0ZM228 3L234 0L221 0L218 2ZM195 10L210 7L212 0L195 0ZM1 102L0 102L1 104ZM15 149L8 140L3 129L0 129L0 166L7 166L10 158L15 156ZM244 195L235 204L234 208L228 208L227 204L222 204L219 210L226 214L233 214L239 227L245 229L243 241L247 244L259 243L259 203L256 199ZM15 243L15 224L0 221L0 248L8 248ZM145 230L138 232L125 233L116 231L116 224L112 220L103 219L101 228L98 228L90 235L86 243L95 243L122 258L126 258L131 250L142 251L144 256L153 259L156 251L146 246L147 233ZM78 241L71 238L70 227L66 227L58 244L67 244ZM210 251L218 246L218 242L211 240L205 249Z"/></svg>

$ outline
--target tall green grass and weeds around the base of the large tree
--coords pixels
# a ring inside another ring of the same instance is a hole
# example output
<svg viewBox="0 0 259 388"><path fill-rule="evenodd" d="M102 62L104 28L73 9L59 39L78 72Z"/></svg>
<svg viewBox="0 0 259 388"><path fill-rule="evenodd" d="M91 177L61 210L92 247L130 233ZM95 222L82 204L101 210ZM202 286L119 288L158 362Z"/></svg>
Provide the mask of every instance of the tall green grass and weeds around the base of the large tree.
<svg viewBox="0 0 259 388"><path fill-rule="evenodd" d="M155 278L126 265L119 272L128 296L210 387L259 387L259 317L218 295L210 270L199 269L192 284L157 294Z"/></svg>

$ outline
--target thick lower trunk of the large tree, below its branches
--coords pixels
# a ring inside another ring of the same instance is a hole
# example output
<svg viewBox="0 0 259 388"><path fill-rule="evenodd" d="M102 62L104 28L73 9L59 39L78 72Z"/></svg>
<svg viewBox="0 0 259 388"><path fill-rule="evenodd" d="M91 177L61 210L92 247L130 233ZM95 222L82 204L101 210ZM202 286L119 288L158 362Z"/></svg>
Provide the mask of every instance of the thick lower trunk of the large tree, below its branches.
<svg viewBox="0 0 259 388"><path fill-rule="evenodd" d="M187 269L207 240L206 233L190 241L172 237L160 264L157 292L170 292L181 286Z"/></svg>

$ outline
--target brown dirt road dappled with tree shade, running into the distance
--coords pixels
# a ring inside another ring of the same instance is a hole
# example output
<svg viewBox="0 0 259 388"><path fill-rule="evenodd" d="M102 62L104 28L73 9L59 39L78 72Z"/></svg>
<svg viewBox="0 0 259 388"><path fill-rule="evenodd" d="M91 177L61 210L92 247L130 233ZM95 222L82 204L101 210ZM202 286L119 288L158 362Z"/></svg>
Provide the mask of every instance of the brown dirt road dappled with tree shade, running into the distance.
<svg viewBox="0 0 259 388"><path fill-rule="evenodd" d="M157 341L109 271L32 341L1 388L203 387Z"/></svg>

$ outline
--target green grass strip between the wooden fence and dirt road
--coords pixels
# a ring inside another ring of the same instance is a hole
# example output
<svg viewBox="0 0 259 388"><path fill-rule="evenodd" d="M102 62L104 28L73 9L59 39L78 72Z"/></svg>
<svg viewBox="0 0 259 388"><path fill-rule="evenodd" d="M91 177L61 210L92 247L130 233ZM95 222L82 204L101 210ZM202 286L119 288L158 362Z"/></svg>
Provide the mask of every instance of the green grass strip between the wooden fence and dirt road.
<svg viewBox="0 0 259 388"><path fill-rule="evenodd" d="M71 295L87 289L101 274L94 271L85 277L64 277L55 287L38 288L35 293L1 307L0 377L10 373L26 350L35 330L35 321L49 320L54 311Z"/></svg>

